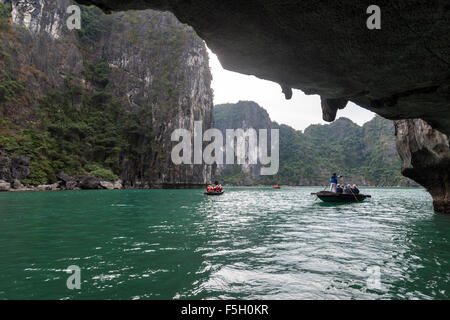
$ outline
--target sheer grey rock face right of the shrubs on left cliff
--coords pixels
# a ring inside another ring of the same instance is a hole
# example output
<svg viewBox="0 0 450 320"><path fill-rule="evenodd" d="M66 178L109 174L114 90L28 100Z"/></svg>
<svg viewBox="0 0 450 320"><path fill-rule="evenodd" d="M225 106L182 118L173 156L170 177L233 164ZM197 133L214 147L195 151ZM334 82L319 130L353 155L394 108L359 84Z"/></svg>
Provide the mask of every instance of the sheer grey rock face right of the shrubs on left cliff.
<svg viewBox="0 0 450 320"><path fill-rule="evenodd" d="M113 17L113 30L102 39L103 55L114 70L112 85L118 96L126 97L129 112L148 109L151 117L145 119L148 129L143 129L153 132L154 141L139 139L136 143L155 144L152 153L143 154L138 160L124 154L120 178L133 187L209 182L211 166L172 163L171 150L175 143L170 139L175 129L193 133L194 121L203 121L203 131L213 126L212 77L204 43L171 13L148 10L117 13ZM167 43L161 48L155 47L153 41L142 41L163 36ZM184 43L184 49L174 62L175 55L170 50L179 50L178 42ZM167 67L174 63L173 68ZM162 74L161 70L168 74ZM173 83L176 88L170 96L167 89Z"/></svg>

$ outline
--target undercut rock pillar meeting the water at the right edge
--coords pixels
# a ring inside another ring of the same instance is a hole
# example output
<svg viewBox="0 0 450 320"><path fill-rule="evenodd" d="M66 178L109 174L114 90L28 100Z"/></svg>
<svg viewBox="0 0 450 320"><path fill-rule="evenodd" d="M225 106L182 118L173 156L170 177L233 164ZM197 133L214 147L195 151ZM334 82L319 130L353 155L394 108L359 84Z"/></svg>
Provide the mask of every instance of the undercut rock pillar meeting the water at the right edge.
<svg viewBox="0 0 450 320"><path fill-rule="evenodd" d="M450 145L448 136L425 121L395 122L403 175L425 186L437 212L450 213Z"/></svg>

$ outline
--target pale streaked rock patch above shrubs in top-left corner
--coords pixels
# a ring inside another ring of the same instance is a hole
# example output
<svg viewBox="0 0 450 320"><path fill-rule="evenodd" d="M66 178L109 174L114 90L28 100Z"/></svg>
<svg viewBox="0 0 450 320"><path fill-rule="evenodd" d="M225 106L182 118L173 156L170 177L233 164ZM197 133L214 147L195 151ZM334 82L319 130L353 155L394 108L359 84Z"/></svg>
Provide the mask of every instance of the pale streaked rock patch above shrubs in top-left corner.
<svg viewBox="0 0 450 320"><path fill-rule="evenodd" d="M76 33L66 26L71 0L3 0L10 4L11 20L20 35L11 55L18 69L30 69L25 76L31 95L41 96L64 84L70 75L83 70L83 55ZM30 68L32 67L32 68ZM27 113L28 106L17 106L16 116Z"/></svg>

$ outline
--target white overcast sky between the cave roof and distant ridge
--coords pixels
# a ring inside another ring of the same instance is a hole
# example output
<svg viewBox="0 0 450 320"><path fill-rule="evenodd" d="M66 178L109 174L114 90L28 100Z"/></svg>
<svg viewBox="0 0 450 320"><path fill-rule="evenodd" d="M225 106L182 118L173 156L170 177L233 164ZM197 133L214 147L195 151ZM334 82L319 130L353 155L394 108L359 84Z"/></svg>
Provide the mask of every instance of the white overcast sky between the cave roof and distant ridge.
<svg viewBox="0 0 450 320"><path fill-rule="evenodd" d="M319 96L307 96L300 90L293 90L292 99L286 100L277 83L227 71L211 50L208 49L208 53L213 75L214 104L252 100L267 110L272 121L287 124L297 130L303 130L311 124L326 123L322 120ZM345 109L338 110L337 117L347 117L362 125L374 115L349 103Z"/></svg>

